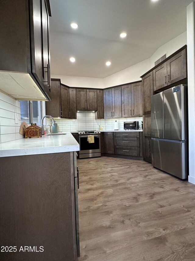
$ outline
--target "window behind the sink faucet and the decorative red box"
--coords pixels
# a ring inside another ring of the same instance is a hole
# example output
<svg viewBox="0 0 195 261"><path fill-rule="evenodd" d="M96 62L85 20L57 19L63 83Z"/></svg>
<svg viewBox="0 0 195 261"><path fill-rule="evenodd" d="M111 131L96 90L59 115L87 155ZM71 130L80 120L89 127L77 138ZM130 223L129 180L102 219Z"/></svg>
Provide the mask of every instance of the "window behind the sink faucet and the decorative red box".
<svg viewBox="0 0 195 261"><path fill-rule="evenodd" d="M21 121L41 125L41 101L20 101Z"/></svg>

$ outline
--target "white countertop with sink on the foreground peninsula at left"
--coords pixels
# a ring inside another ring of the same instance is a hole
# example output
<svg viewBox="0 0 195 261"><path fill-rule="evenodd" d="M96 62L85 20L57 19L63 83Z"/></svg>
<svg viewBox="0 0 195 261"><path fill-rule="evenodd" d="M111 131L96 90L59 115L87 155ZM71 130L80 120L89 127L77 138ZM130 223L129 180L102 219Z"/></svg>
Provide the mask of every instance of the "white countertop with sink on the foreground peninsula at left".
<svg viewBox="0 0 195 261"><path fill-rule="evenodd" d="M70 132L66 135L43 135L41 138L23 138L0 144L0 157L49 154L79 151L80 147Z"/></svg>

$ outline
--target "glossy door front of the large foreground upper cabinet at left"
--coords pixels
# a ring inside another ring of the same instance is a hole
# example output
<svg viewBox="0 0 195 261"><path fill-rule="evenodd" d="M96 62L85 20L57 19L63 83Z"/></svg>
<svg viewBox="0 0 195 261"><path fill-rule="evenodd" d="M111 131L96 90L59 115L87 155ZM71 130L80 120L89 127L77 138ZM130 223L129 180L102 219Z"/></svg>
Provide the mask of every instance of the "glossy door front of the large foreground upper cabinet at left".
<svg viewBox="0 0 195 261"><path fill-rule="evenodd" d="M46 91L50 82L49 71L49 19L45 0L30 1L30 35L32 73Z"/></svg>

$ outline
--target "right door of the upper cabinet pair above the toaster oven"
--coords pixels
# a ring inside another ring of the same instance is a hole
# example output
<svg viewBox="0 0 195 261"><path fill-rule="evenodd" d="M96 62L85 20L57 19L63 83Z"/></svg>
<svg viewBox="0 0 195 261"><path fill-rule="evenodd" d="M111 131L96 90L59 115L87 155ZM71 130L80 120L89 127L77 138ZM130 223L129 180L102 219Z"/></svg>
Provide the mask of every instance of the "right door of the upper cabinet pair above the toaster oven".
<svg viewBox="0 0 195 261"><path fill-rule="evenodd" d="M142 84L131 84L132 116L142 116Z"/></svg>

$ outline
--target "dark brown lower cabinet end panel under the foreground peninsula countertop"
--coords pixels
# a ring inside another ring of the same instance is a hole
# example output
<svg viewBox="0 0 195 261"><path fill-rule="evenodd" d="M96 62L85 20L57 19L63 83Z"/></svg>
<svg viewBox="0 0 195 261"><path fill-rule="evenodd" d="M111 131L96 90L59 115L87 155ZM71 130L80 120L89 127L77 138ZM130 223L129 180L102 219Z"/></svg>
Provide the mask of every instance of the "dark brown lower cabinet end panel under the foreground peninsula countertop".
<svg viewBox="0 0 195 261"><path fill-rule="evenodd" d="M17 248L1 261L77 258L76 169L76 152L0 158L0 245ZM24 246L37 252L19 251Z"/></svg>

